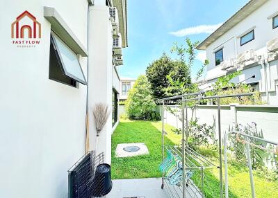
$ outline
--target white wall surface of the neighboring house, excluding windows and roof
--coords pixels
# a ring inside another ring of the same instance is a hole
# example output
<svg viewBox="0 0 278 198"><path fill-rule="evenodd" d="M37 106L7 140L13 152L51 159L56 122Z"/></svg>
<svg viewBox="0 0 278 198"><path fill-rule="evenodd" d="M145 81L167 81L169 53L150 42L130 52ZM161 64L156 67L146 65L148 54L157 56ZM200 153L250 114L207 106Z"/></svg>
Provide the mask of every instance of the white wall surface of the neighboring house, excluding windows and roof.
<svg viewBox="0 0 278 198"><path fill-rule="evenodd" d="M236 58L237 54L243 53L247 50L253 49L256 55L265 55L266 53L266 43L270 39L278 37L278 28L272 29L272 19L267 19L270 15L278 11L277 0L269 0L259 9L255 10L251 15L240 21L236 26L231 28L227 33L219 37L215 42L213 42L206 49L206 57L209 60L206 71L206 80L208 80L208 85L218 78L226 74L226 71L222 71L220 65L215 66L215 51L223 48L223 58L224 60L230 60L230 58ZM250 28L254 27L254 40L240 46L239 35L245 33ZM236 45L235 45L236 42ZM236 53L237 51L237 53ZM249 67L255 66L255 68L248 69ZM278 85L278 61L271 61L270 68L267 69L268 75L268 89L270 91L270 105L278 105L277 97L277 85ZM258 62L245 67L242 70L242 74L235 79L234 82L240 82L246 78L250 78L252 75L256 75L255 79L247 80L245 83L259 82L259 91L261 91L263 100L265 98L265 80L264 71L261 64ZM207 87L205 84L202 87Z"/></svg>

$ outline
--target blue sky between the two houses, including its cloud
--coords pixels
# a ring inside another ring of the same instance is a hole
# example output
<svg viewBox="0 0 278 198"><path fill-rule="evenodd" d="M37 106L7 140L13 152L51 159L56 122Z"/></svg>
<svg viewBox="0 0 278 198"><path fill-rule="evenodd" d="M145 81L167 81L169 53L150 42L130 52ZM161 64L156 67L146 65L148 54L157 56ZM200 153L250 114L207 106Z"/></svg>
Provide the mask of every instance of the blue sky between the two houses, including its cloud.
<svg viewBox="0 0 278 198"><path fill-rule="evenodd" d="M163 52L172 55L174 42L184 45L186 37L201 42L247 1L129 0L129 47L123 50L120 76L137 78L144 74L149 63ZM194 63L193 77L202 66L202 59L204 52Z"/></svg>

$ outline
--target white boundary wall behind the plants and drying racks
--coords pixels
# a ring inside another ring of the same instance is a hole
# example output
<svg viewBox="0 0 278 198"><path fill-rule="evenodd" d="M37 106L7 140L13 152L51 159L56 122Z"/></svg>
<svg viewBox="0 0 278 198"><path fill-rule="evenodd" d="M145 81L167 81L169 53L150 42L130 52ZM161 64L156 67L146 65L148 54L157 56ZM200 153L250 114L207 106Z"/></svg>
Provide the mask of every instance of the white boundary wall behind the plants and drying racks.
<svg viewBox="0 0 278 198"><path fill-rule="evenodd" d="M178 108L177 106L168 106L172 109ZM188 109L188 116L198 118L199 123L206 123L213 125L213 119L217 123L217 105L199 105L194 114L191 109ZM157 111L162 113L162 106L157 107ZM278 106L270 105L221 105L221 130L222 132L228 131L229 126L235 122L238 124L246 125L247 123L254 122L257 124L259 130L263 130L265 139L278 141ZM180 128L181 121L177 116L174 116L170 111L165 110L165 123L173 127ZM216 124L216 127L217 124ZM216 132L218 129L216 128Z"/></svg>

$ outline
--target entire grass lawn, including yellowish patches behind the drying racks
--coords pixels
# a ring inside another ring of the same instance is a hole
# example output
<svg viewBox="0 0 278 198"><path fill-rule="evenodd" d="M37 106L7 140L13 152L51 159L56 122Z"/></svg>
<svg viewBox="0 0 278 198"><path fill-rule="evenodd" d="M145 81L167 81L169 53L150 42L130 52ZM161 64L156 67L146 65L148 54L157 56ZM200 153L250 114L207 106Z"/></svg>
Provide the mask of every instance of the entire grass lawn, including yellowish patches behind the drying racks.
<svg viewBox="0 0 278 198"><path fill-rule="evenodd" d="M179 144L181 135L174 134L170 125L165 125L167 136L166 145ZM127 158L115 158L115 149L119 143L145 143L149 149L149 155ZM202 154L206 154L217 163L215 155L206 147L201 148ZM161 177L158 166L161 163L161 122L120 120L120 124L112 136L112 177L113 179L131 179ZM206 197L219 197L219 172L218 169L206 170L205 195ZM198 172L195 172L197 183ZM266 179L254 171L254 183L256 197L278 197L278 182ZM229 165L229 197L251 197L250 181L247 168L238 165Z"/></svg>

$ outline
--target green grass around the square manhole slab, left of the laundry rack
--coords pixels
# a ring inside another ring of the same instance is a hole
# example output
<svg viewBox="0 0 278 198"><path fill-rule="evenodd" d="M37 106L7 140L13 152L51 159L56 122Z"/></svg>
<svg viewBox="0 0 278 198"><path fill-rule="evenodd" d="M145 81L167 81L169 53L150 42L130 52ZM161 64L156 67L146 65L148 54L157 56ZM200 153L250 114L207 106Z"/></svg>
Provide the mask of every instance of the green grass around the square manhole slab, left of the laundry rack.
<svg viewBox="0 0 278 198"><path fill-rule="evenodd" d="M161 177L161 172L158 170L161 163L160 126L159 122L121 120L112 136L113 179ZM170 129L169 125L167 129ZM119 143L145 143L149 154L116 158L115 149ZM165 144L173 143L166 137Z"/></svg>

